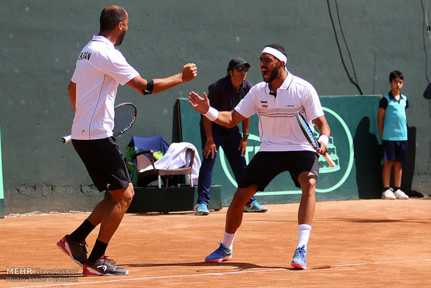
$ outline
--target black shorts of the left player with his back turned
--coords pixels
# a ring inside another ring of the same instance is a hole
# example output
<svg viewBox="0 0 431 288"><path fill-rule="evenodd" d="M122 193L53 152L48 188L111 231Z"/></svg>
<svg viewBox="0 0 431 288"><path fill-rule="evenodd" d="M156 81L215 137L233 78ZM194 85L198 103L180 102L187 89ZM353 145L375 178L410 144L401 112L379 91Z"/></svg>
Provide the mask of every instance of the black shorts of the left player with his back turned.
<svg viewBox="0 0 431 288"><path fill-rule="evenodd" d="M72 144L99 191L112 191L129 186L130 175L115 138L72 139Z"/></svg>

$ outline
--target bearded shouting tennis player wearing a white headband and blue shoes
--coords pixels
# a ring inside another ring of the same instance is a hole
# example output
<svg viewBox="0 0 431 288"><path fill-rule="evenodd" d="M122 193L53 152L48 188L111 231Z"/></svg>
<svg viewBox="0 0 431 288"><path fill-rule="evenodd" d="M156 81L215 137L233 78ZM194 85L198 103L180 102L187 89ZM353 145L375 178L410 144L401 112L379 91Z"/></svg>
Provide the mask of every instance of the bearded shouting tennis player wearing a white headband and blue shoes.
<svg viewBox="0 0 431 288"><path fill-rule="evenodd" d="M257 191L280 173L289 171L295 186L302 189L298 210L298 246L291 265L306 269L307 243L316 207L316 179L319 172L318 154L308 143L295 118L300 112L318 127L319 154L327 152L330 127L314 87L286 69L287 54L281 45L264 47L260 56L263 82L253 86L232 111L213 109L206 94L203 98L190 92L190 105L211 121L233 127L254 113L259 115L259 152L245 169L238 189L227 210L225 234L220 246L205 258L206 262L222 262L232 257L236 230L243 219L243 207Z"/></svg>

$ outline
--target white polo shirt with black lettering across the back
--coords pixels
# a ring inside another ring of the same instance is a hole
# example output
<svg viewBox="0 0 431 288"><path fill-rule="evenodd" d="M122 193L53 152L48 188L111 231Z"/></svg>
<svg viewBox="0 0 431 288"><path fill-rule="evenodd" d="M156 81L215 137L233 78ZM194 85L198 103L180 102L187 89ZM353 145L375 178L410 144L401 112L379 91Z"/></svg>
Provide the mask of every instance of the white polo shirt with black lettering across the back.
<svg viewBox="0 0 431 288"><path fill-rule="evenodd" d="M76 112L72 139L113 136L117 87L139 73L104 36L93 35L79 54L72 82L76 83Z"/></svg>

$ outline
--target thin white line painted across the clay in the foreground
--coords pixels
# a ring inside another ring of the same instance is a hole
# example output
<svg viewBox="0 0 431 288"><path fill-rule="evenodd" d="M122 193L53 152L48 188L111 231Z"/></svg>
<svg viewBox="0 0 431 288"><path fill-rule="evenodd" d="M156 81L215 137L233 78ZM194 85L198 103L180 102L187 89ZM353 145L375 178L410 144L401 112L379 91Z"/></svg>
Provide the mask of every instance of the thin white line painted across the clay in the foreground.
<svg viewBox="0 0 431 288"><path fill-rule="evenodd" d="M373 262L373 263L339 264L339 265L331 265L329 268L332 268L332 267L345 267L345 266L361 266L361 265L394 264L394 263L407 263L407 262L423 262L423 261L431 261L431 259L406 260L406 261L391 261L391 262ZM154 276L154 277L144 277L144 278L103 280L103 281L95 281L95 282L73 282L73 283L61 283L61 284L57 283L57 284L53 284L53 285L21 286L21 287L15 287L15 288L58 287L58 286L71 286L71 285L95 285L95 284L99 284L99 283L109 283L109 282L151 280L151 279L167 279L167 278L184 278L184 277L199 277L199 276L223 276L223 275L240 274L240 273L273 272L273 271L285 271L285 270L287 270L287 268L286 269L266 269L266 270L253 270L253 271L205 273L205 274L186 274L186 275ZM74 277L74 275L69 275L68 277Z"/></svg>

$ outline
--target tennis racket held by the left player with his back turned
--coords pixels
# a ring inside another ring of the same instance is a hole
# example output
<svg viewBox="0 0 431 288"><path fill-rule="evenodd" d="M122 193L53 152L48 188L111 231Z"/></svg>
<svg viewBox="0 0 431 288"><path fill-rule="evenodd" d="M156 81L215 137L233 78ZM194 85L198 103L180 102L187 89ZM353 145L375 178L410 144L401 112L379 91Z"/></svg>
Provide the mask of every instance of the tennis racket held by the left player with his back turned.
<svg viewBox="0 0 431 288"><path fill-rule="evenodd" d="M114 137L123 134L125 131L129 130L133 122L136 120L136 106L131 103L122 103L114 107ZM70 142L72 136L64 136L61 141L63 143Z"/></svg>

